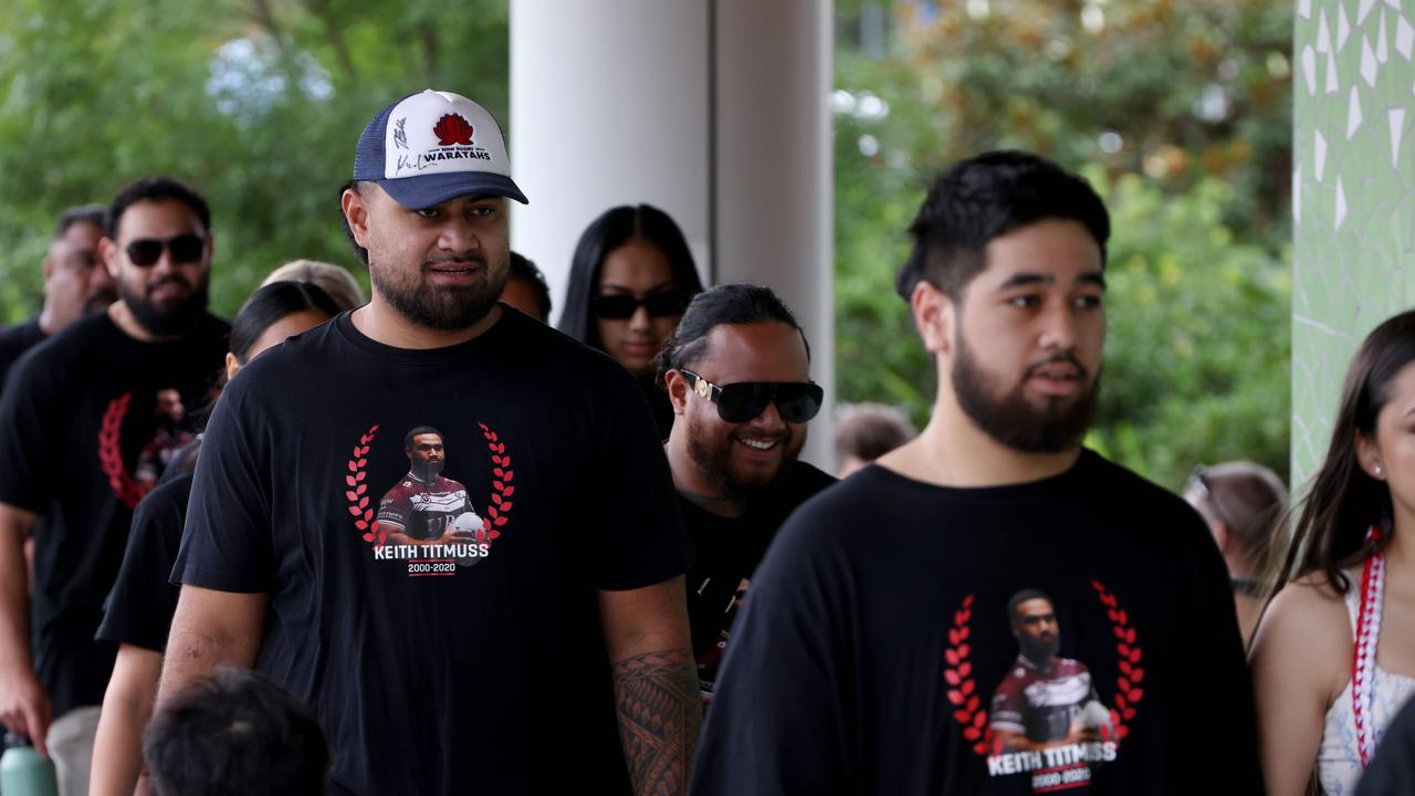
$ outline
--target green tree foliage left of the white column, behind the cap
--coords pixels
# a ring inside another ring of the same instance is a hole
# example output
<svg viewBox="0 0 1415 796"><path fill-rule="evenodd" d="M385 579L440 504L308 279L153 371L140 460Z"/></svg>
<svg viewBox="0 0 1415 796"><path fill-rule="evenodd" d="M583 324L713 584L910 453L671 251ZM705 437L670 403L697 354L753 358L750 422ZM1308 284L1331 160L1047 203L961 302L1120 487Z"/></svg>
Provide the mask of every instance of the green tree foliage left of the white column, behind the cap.
<svg viewBox="0 0 1415 796"><path fill-rule="evenodd" d="M34 312L58 212L143 174L197 186L212 305L280 263L366 282L337 188L369 118L423 88L505 119L507 0L7 0L0 4L0 320Z"/></svg>

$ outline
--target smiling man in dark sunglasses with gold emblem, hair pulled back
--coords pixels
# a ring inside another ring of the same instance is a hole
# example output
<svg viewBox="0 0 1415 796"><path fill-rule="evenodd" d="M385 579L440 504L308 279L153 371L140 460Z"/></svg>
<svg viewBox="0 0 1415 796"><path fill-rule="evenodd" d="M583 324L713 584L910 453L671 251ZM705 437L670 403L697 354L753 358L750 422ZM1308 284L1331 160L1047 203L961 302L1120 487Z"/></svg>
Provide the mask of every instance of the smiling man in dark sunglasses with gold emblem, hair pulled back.
<svg viewBox="0 0 1415 796"><path fill-rule="evenodd" d="M835 483L798 462L824 391L811 348L768 288L699 293L658 357L674 405L665 449L693 547L688 618L703 698L739 601L787 516Z"/></svg>

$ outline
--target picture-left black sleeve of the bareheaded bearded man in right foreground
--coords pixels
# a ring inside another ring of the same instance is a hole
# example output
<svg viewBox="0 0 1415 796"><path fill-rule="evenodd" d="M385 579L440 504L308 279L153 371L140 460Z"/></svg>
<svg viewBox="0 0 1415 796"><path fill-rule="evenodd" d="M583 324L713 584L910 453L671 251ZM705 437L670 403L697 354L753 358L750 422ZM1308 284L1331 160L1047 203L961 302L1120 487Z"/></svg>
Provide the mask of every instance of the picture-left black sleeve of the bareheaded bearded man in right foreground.
<svg viewBox="0 0 1415 796"><path fill-rule="evenodd" d="M751 581L698 746L695 796L855 790L857 620L848 555L818 514L797 511Z"/></svg>

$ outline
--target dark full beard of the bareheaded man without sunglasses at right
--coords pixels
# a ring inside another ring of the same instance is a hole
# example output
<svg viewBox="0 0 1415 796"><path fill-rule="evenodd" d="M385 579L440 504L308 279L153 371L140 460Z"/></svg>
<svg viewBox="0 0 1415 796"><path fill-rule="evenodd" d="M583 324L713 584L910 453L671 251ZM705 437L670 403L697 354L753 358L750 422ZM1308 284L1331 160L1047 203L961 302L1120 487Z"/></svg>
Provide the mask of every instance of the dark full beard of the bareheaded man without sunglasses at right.
<svg viewBox="0 0 1415 796"><path fill-rule="evenodd" d="M958 353L952 367L954 395L958 398L958 406L983 433L1023 453L1060 453L1081 443L1095 416L1097 395L1101 390L1099 374L1095 375L1088 392L1073 399L1049 397L1046 406L1037 408L1027 401L1023 384L999 395L1000 391L993 384L996 380L983 370L961 330L955 337ZM1064 358L1075 367L1081 380L1087 377L1087 370L1075 357L1065 354L1057 358Z"/></svg>

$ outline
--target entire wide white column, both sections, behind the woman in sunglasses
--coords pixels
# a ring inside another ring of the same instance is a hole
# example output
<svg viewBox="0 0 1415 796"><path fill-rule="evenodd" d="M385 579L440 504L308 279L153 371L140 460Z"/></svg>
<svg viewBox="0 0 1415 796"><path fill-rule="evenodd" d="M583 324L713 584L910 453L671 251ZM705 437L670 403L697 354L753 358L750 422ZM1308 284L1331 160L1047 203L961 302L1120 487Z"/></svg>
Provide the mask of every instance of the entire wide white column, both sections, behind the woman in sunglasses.
<svg viewBox="0 0 1415 796"><path fill-rule="evenodd" d="M826 0L511 0L512 248L563 303L574 242L616 204L683 228L705 283L797 312L833 394ZM831 404L805 459L829 469Z"/></svg>

